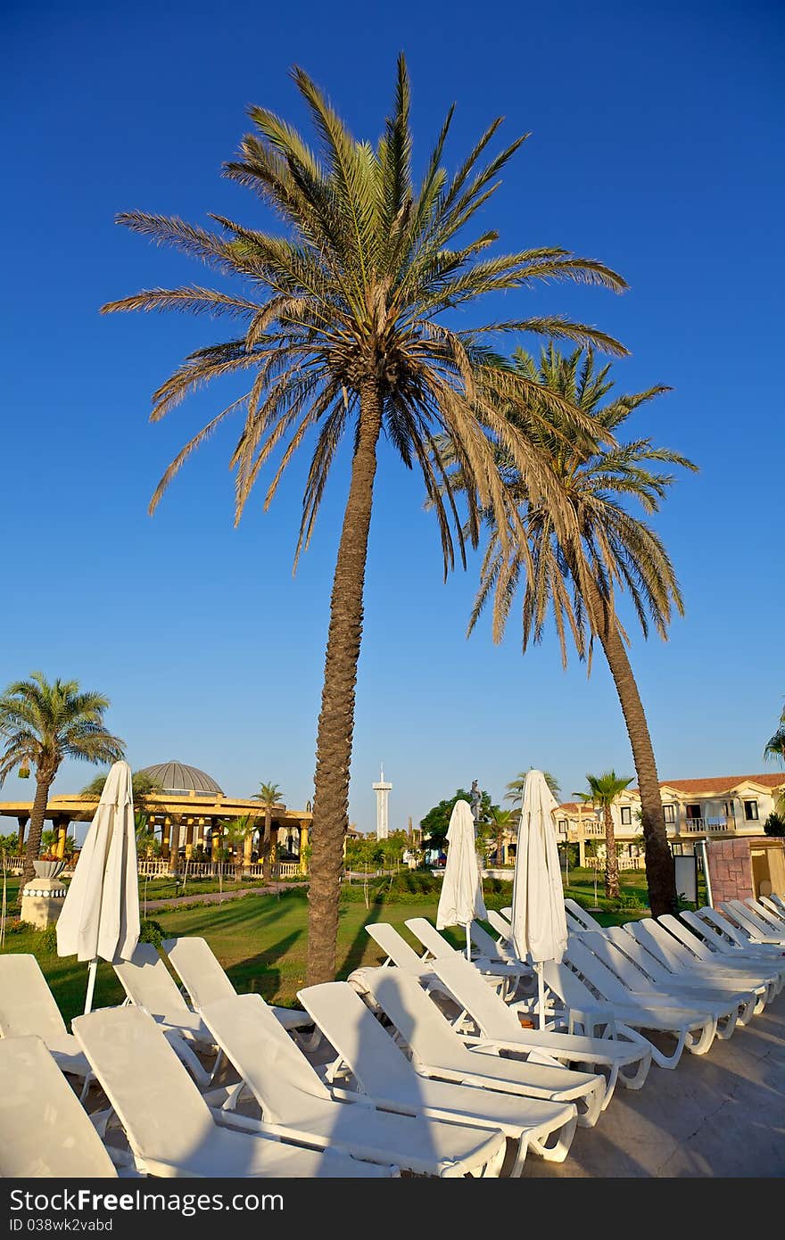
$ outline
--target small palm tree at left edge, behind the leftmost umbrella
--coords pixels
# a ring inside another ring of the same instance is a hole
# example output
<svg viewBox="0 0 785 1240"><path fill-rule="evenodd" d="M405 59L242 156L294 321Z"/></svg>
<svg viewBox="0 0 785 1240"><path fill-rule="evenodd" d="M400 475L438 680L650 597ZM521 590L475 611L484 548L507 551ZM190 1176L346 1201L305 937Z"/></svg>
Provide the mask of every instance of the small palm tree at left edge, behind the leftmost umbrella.
<svg viewBox="0 0 785 1240"><path fill-rule="evenodd" d="M104 727L109 699L102 693L82 692L78 681L56 680L32 672L30 680L9 684L0 697L0 787L22 763L36 768L36 795L30 813L21 888L35 877L33 861L41 847L41 832L50 787L63 758L86 763L113 763L123 756L124 742Z"/></svg>

